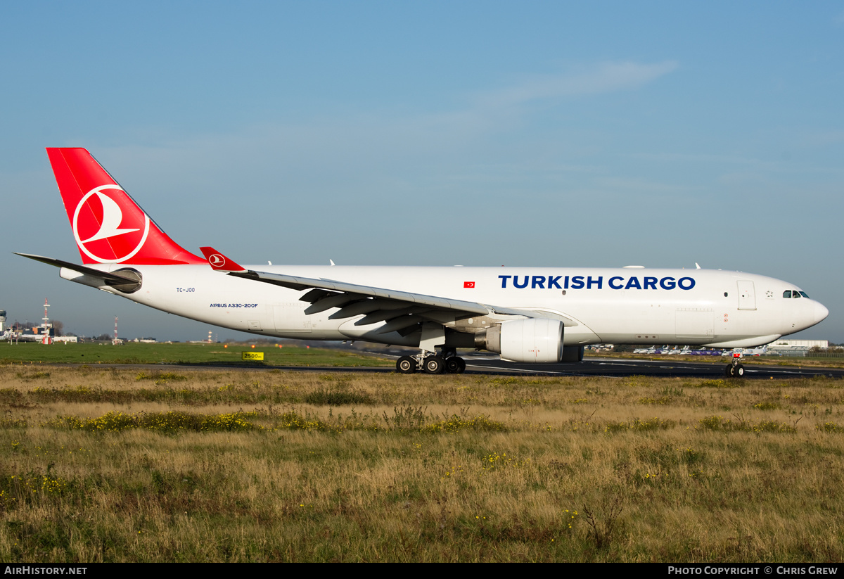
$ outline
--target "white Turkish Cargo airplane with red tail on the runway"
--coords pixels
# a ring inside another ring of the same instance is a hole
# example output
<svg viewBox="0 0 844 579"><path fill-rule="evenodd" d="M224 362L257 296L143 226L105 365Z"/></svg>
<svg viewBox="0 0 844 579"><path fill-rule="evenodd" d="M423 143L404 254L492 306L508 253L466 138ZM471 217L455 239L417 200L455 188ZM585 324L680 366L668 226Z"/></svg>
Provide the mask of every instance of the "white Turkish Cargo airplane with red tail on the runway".
<svg viewBox="0 0 844 579"><path fill-rule="evenodd" d="M215 326L419 348L398 360L402 373L463 372L458 348L532 363L581 361L588 344L747 348L829 315L794 284L701 268L241 266L172 241L86 149L46 151L82 264L18 255Z"/></svg>

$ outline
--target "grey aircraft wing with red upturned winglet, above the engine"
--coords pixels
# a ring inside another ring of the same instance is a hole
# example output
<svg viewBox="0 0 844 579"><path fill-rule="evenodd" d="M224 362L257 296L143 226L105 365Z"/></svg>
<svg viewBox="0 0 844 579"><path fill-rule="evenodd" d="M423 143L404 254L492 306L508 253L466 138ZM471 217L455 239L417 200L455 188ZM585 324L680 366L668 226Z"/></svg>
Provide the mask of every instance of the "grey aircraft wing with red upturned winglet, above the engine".
<svg viewBox="0 0 844 579"><path fill-rule="evenodd" d="M455 300L436 295L416 294L397 289L376 288L368 285L349 284L334 279L313 279L284 273L268 273L243 268L230 258L211 247L201 247L203 255L212 268L241 279L251 279L264 284L284 288L310 289L300 300L309 302L306 314L316 314L332 308L339 308L330 319L364 317L354 322L365 326L376 322L387 322L378 333L401 332L414 327L421 321L454 322L468 317L518 316L549 317L561 320L566 326L576 326L570 318L556 312L533 311L482 304L476 301Z"/></svg>

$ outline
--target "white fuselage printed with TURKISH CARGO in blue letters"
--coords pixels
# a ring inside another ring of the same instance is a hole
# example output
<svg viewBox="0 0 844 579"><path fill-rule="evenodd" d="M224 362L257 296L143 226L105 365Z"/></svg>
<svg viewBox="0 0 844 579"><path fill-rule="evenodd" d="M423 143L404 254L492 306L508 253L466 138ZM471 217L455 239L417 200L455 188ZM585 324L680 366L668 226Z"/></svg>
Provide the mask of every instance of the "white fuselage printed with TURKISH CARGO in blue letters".
<svg viewBox="0 0 844 579"><path fill-rule="evenodd" d="M362 339L418 345L419 338L377 333L384 322L356 326L362 315L332 319L337 308L306 315L306 291L262 284L215 272L204 265L129 266L143 275L133 294L145 306L215 326L281 338ZM121 269L103 265L104 271ZM742 347L767 344L823 320L824 306L798 287L760 275L704 269L649 268L423 268L349 266L246 266L268 273L343 280L484 305L544 311L565 318L564 343L701 344ZM62 277L86 283L62 269ZM444 320L472 333L471 318ZM414 343L415 341L415 343Z"/></svg>

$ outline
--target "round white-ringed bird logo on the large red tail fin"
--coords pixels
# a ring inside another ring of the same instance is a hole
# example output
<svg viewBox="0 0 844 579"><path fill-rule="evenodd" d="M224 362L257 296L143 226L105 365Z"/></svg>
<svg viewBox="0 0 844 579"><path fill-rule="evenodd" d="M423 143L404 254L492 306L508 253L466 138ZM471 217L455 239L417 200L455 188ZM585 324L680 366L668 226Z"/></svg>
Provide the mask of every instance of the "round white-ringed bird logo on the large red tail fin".
<svg viewBox="0 0 844 579"><path fill-rule="evenodd" d="M149 216L127 201L121 187L103 185L85 193L76 206L73 236L79 249L95 262L124 262L147 241Z"/></svg>

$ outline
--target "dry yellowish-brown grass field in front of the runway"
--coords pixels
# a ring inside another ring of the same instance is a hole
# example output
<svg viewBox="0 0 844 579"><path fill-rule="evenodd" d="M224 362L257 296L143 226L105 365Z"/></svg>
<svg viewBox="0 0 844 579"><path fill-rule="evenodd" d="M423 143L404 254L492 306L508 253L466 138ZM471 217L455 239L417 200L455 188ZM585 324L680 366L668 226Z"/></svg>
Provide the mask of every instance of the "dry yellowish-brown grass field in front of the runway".
<svg viewBox="0 0 844 579"><path fill-rule="evenodd" d="M844 559L841 381L0 383L3 561Z"/></svg>

